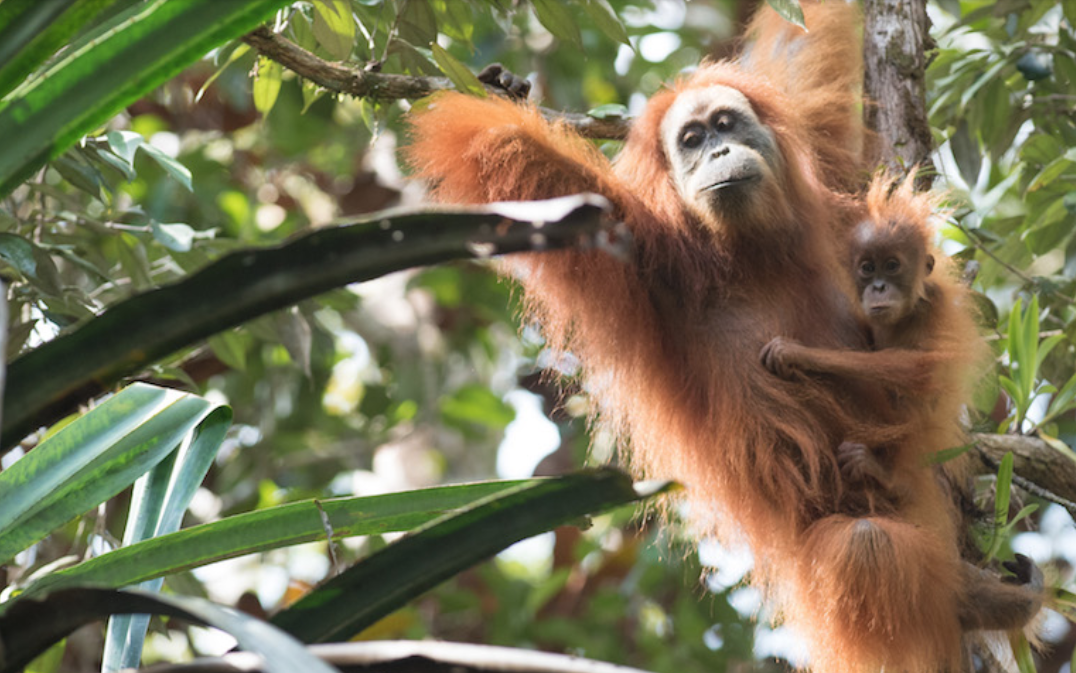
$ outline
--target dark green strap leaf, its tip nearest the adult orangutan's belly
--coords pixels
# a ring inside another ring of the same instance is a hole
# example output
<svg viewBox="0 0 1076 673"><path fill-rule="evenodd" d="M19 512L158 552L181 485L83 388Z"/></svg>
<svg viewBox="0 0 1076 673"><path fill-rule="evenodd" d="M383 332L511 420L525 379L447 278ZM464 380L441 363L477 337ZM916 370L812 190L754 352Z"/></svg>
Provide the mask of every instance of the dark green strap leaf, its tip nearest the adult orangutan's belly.
<svg viewBox="0 0 1076 673"><path fill-rule="evenodd" d="M437 519L359 561L278 613L272 622L305 643L348 640L515 542L642 496L627 476L613 469L521 485Z"/></svg>

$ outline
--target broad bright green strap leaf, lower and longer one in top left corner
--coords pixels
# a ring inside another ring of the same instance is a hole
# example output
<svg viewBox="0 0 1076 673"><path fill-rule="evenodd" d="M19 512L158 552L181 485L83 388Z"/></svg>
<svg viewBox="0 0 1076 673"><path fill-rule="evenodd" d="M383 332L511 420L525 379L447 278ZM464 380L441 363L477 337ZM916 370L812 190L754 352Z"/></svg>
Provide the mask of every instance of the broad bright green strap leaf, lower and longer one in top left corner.
<svg viewBox="0 0 1076 673"><path fill-rule="evenodd" d="M288 3L146 0L95 27L77 48L0 101L0 196L139 96Z"/></svg>

